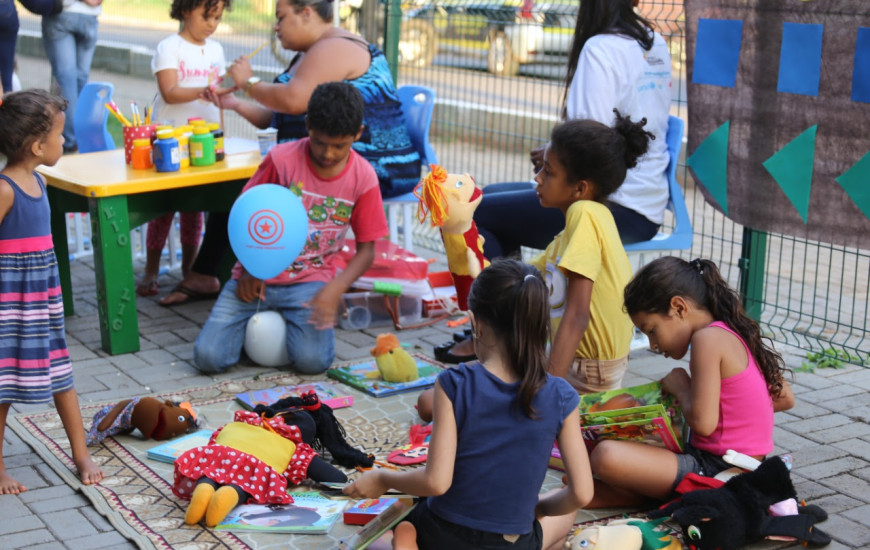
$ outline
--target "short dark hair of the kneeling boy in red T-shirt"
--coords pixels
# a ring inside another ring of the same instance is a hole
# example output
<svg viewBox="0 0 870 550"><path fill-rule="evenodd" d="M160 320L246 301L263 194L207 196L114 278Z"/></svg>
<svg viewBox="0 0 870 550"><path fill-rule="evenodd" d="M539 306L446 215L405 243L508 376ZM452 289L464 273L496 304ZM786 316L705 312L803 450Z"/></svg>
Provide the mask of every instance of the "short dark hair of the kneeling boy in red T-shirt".
<svg viewBox="0 0 870 550"><path fill-rule="evenodd" d="M362 94L347 82L326 82L314 88L306 120L312 130L329 136L355 136L362 127Z"/></svg>

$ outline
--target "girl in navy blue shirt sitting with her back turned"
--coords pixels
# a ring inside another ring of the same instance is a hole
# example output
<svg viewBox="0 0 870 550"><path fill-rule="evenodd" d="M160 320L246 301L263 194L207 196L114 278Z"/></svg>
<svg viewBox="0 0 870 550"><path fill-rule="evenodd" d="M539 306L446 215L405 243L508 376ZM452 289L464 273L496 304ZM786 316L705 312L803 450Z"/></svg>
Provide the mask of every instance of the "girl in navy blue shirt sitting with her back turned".
<svg viewBox="0 0 870 550"><path fill-rule="evenodd" d="M547 286L534 267L500 260L475 279L468 305L479 361L438 376L425 468L373 470L345 493L428 497L397 527L395 548L561 548L592 498L592 473L577 392L547 374ZM539 495L555 440L567 485Z"/></svg>

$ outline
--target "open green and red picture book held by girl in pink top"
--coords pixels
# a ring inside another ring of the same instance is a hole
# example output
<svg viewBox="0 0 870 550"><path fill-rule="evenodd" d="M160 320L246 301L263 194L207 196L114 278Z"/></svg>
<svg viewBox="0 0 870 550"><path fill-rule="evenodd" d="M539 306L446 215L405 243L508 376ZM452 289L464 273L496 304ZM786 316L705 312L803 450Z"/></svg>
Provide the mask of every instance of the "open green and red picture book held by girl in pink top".
<svg viewBox="0 0 870 550"><path fill-rule="evenodd" d="M685 420L659 382L580 396L580 425L591 450L601 439L631 439L681 452Z"/></svg>

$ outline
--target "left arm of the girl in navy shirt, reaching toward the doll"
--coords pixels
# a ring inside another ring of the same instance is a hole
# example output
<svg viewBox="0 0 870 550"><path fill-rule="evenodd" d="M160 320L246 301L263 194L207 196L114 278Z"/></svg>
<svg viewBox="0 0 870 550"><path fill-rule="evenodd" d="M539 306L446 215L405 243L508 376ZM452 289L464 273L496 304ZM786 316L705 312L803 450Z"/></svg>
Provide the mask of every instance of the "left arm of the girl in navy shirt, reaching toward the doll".
<svg viewBox="0 0 870 550"><path fill-rule="evenodd" d="M575 420L579 427L579 417ZM346 487L344 492L353 498L377 498L388 489L417 496L443 495L453 482L457 437L453 403L436 380L435 420L432 424L432 437L429 439L426 467L404 472L372 470L363 474L353 485Z"/></svg>

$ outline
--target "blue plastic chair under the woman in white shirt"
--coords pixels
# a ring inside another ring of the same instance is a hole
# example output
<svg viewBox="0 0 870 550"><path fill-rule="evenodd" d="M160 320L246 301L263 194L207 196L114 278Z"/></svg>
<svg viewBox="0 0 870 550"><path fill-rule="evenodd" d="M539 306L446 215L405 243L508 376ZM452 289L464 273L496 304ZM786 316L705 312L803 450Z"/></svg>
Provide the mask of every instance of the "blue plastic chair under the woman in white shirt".
<svg viewBox="0 0 870 550"><path fill-rule="evenodd" d="M692 248L692 220L686 208L686 200L683 198L683 189L677 182L677 162L683 146L683 126L684 122L681 118L671 116L668 119L668 135L665 138L670 156L667 172L670 197L666 208L674 215L674 229L670 233L659 230L656 236L648 241L625 245L625 251L629 254Z"/></svg>

